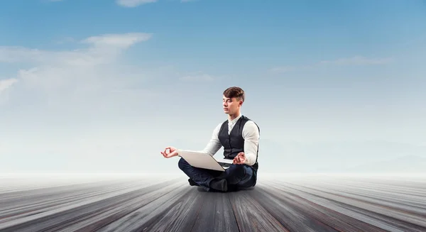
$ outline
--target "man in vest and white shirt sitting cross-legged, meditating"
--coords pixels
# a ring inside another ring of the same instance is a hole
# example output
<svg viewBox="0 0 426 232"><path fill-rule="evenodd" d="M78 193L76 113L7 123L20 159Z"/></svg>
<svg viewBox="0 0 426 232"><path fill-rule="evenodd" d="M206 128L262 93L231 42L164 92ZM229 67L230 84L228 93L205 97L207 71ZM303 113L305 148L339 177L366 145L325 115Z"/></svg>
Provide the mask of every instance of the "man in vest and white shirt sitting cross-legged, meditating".
<svg viewBox="0 0 426 232"><path fill-rule="evenodd" d="M203 153L214 155L223 146L224 158L233 160L226 172L192 167L183 158L178 166L190 177L190 185L204 187L207 191L227 192L256 185L258 170L258 141L260 129L249 118L241 115L245 93L239 87L229 87L223 93L223 107L228 120L214 128L212 138ZM161 152L165 158L179 155L176 148L167 147Z"/></svg>

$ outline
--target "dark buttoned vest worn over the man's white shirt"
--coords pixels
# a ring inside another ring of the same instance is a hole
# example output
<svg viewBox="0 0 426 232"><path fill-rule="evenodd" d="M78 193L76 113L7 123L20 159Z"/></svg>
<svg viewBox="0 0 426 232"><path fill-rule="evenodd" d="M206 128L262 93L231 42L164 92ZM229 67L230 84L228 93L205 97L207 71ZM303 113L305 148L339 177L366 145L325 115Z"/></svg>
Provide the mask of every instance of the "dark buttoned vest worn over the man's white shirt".
<svg viewBox="0 0 426 232"><path fill-rule="evenodd" d="M229 160L234 160L238 153L244 152L244 138L243 138L243 128L247 121L251 121L246 116L241 116L238 121L236 121L234 128L232 128L231 133L228 134L228 121L224 121L219 130L219 141L224 147L224 158ZM256 123L255 123L256 124ZM257 124L256 124L257 126ZM261 132L259 126L259 133ZM256 162L254 163L253 169L258 170L258 150L256 151Z"/></svg>

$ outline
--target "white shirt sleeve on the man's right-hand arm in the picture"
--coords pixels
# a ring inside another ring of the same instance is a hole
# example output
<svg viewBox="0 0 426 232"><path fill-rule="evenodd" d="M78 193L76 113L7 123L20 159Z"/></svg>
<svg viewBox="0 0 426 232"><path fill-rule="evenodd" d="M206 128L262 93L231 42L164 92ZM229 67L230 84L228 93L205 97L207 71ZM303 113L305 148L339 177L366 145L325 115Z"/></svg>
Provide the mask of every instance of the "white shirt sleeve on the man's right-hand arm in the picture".
<svg viewBox="0 0 426 232"><path fill-rule="evenodd" d="M246 165L254 165L258 153L260 133L258 126L253 121L247 121L243 128L244 155L246 155Z"/></svg>

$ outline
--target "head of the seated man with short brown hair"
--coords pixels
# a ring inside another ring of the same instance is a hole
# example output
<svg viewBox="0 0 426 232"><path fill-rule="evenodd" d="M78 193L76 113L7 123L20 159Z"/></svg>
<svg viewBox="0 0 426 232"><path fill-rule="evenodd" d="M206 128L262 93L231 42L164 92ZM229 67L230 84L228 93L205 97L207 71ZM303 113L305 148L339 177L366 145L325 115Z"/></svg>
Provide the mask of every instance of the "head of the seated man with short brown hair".
<svg viewBox="0 0 426 232"><path fill-rule="evenodd" d="M225 114L239 114L246 94L240 87L229 87L223 94L223 106Z"/></svg>

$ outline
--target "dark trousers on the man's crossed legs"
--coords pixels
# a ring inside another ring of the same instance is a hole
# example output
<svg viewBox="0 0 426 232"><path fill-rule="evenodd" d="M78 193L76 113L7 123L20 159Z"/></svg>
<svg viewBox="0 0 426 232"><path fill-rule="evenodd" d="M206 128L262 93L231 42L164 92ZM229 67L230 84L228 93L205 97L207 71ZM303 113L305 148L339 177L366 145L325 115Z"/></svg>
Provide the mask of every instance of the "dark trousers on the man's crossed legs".
<svg viewBox="0 0 426 232"><path fill-rule="evenodd" d="M226 172L217 170L207 170L199 167L192 167L186 160L180 158L178 166L182 172L190 177L195 183L211 191L210 182L213 179L226 179L228 189L241 189L256 185L256 173L249 165L231 165Z"/></svg>

